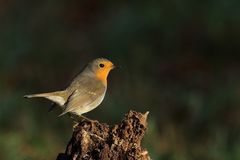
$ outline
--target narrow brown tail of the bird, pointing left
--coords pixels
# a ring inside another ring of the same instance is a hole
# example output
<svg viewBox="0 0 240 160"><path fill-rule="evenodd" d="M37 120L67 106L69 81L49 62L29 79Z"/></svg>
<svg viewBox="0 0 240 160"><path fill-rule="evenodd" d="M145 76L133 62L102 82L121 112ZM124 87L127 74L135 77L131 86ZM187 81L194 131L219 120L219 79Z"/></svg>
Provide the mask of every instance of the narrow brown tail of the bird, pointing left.
<svg viewBox="0 0 240 160"><path fill-rule="evenodd" d="M35 98L35 97L44 97L47 98L54 103L57 103L60 106L63 106L67 101L67 93L66 91L57 91L57 92L49 92L49 93L40 93L40 94L30 94L25 95L24 98Z"/></svg>

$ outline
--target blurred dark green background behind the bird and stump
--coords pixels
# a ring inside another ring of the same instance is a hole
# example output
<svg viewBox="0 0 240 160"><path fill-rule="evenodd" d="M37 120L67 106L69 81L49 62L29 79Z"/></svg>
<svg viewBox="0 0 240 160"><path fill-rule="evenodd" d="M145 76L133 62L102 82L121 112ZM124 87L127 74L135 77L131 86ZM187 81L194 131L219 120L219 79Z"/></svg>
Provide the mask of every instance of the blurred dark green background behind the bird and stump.
<svg viewBox="0 0 240 160"><path fill-rule="evenodd" d="M158 160L240 159L240 1L0 1L0 159L55 159L68 116L24 94L65 88L97 57L121 66L87 117L149 114Z"/></svg>

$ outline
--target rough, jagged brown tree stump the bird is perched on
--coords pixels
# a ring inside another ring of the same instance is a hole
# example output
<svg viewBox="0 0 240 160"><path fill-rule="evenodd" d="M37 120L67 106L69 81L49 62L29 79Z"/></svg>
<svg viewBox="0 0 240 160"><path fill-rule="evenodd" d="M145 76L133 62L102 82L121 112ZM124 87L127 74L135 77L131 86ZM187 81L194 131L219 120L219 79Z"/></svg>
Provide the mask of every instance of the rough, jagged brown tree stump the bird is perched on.
<svg viewBox="0 0 240 160"><path fill-rule="evenodd" d="M57 160L150 160L148 151L141 147L147 115L129 111L114 126L82 120Z"/></svg>

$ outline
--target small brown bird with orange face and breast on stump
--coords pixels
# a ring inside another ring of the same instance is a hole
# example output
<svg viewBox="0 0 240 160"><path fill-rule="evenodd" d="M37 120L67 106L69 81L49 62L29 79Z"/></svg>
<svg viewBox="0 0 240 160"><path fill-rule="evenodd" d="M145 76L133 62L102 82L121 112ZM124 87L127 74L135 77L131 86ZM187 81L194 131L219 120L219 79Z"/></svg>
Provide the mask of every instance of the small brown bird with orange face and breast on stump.
<svg viewBox="0 0 240 160"><path fill-rule="evenodd" d="M25 98L44 97L58 104L63 112L83 118L82 114L95 109L104 99L107 90L107 77L114 64L106 58L90 62L71 84L62 91L25 95Z"/></svg>

